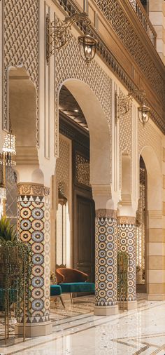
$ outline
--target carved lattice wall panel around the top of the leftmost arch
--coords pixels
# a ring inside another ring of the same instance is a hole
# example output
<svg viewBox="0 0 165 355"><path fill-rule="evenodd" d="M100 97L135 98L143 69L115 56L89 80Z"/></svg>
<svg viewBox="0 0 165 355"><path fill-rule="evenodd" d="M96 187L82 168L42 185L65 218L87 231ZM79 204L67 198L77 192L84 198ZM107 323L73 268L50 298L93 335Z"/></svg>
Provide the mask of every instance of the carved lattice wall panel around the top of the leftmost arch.
<svg viewBox="0 0 165 355"><path fill-rule="evenodd" d="M36 87L38 145L38 0L3 0L3 128L8 129L8 67L23 65Z"/></svg>

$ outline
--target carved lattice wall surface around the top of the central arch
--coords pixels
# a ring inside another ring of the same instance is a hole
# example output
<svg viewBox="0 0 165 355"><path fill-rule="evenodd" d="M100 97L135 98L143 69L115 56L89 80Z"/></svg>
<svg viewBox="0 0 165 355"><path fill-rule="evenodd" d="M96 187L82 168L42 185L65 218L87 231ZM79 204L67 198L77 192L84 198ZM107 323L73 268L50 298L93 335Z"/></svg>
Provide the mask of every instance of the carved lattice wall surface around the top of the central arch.
<svg viewBox="0 0 165 355"><path fill-rule="evenodd" d="M69 43L57 51L55 55L55 155L58 156L58 93L66 79L79 79L89 85L98 98L107 121L111 123L112 80L93 60L89 67L80 56L78 43L73 37ZM111 130L111 129L110 129Z"/></svg>

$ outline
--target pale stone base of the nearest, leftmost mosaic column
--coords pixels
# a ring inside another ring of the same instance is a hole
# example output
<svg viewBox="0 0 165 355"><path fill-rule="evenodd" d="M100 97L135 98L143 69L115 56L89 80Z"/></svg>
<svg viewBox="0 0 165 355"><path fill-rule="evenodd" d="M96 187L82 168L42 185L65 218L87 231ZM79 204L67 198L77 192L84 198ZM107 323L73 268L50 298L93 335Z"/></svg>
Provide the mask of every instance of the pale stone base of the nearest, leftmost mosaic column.
<svg viewBox="0 0 165 355"><path fill-rule="evenodd" d="M52 322L46 323L27 323L25 326L26 337L43 337L52 333ZM15 334L23 335L22 323L15 324Z"/></svg>

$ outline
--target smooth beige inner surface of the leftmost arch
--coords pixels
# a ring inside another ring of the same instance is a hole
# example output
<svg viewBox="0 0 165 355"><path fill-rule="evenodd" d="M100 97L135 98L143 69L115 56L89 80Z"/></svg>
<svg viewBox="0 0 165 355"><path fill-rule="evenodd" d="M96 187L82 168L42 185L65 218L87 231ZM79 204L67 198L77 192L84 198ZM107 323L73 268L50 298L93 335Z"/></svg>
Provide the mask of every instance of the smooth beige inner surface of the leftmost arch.
<svg viewBox="0 0 165 355"><path fill-rule="evenodd" d="M8 68L8 114L16 135L17 163L38 162L36 89L24 67Z"/></svg>

